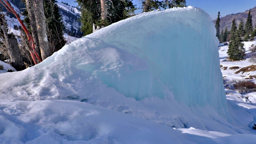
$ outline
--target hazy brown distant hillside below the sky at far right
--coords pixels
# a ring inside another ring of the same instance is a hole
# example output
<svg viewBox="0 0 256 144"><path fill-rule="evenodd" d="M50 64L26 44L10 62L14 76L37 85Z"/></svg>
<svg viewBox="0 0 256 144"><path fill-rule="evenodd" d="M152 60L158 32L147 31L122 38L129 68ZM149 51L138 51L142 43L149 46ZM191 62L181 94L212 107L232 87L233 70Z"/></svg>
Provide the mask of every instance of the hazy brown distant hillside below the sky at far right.
<svg viewBox="0 0 256 144"><path fill-rule="evenodd" d="M224 17L220 18L220 31L223 29L225 29L226 27L228 28L228 30L230 30L231 25L232 25L232 20L235 18L236 19L236 24L238 25L240 20L243 18L244 19L244 24L246 22L246 19L248 17L248 12L249 10L246 10L245 12L241 12L238 14L230 14ZM216 12L217 14L217 12ZM256 7L251 9L251 14L252 14L252 25L255 26L256 24ZM220 15L221 15L221 11L220 11ZM213 22L215 23L216 20L213 20Z"/></svg>

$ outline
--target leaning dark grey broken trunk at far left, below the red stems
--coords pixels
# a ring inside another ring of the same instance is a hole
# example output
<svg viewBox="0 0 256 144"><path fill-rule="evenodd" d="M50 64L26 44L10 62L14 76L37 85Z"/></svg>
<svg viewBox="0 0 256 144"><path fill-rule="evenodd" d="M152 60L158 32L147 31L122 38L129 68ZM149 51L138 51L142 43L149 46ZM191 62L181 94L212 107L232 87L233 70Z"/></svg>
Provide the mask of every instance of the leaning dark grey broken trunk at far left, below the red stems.
<svg viewBox="0 0 256 144"><path fill-rule="evenodd" d="M26 69L22 60L22 55L20 54L17 39L15 38L13 33L8 35L5 26L2 26L2 29L4 32L4 39L6 41L6 48L10 56L11 66L14 67L17 71Z"/></svg>

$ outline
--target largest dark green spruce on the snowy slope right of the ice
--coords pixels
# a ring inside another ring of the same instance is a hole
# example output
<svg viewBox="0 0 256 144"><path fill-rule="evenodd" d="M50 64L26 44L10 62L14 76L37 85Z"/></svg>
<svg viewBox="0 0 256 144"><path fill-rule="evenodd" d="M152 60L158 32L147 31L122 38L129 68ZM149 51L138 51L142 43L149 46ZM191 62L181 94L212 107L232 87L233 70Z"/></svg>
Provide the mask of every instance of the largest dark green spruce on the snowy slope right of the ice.
<svg viewBox="0 0 256 144"><path fill-rule="evenodd" d="M244 44L236 28L235 19L232 20L232 26L230 30L230 40L231 42L228 45L228 56L232 60L242 60L245 56Z"/></svg>

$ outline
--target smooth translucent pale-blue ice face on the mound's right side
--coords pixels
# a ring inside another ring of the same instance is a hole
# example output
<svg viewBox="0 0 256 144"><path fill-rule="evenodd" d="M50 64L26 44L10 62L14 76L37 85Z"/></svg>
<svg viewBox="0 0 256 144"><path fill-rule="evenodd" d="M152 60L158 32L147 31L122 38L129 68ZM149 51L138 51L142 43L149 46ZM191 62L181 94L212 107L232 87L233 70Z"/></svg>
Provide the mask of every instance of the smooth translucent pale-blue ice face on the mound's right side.
<svg viewBox="0 0 256 144"><path fill-rule="evenodd" d="M148 12L86 36L120 54L120 67L97 75L125 96L166 97L188 106L226 106L218 39L210 16L201 9Z"/></svg>

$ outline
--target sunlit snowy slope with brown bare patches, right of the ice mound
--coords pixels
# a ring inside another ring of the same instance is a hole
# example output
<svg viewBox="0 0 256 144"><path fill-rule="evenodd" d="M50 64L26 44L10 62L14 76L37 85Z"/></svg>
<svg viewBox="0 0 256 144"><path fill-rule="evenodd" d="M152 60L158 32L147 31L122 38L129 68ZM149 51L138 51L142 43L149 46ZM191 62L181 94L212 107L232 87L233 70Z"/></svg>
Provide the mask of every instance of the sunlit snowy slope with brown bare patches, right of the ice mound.
<svg viewBox="0 0 256 144"><path fill-rule="evenodd" d="M220 64L221 64L221 72L225 81L225 85L227 86L226 88L226 93L227 93L227 98L228 99L238 99L238 101L242 101L242 103L246 104L239 104L240 106L244 105L250 105L256 104L256 92L250 92L250 93L244 93L240 94L239 92L235 92L232 90L232 87L229 87L228 85L232 85L232 81L234 80L250 80L251 82L256 83L256 79L254 77L250 76L255 76L256 71L249 71L249 72L239 72L235 73L241 68L251 66L251 65L256 65L255 62L250 61L251 58L256 56L255 52L251 52L250 48L256 45L256 41L251 41L251 42L244 42L244 48L246 49L246 60L240 60L240 61L230 61L228 60L228 54L226 53L228 51L228 46L221 46L219 47L219 53L220 53ZM225 68L226 67L226 68ZM236 67L232 69L232 67ZM250 68L249 68L250 69ZM231 90L230 90L231 89ZM231 98L233 97L234 98ZM250 106L244 106L247 108L250 108Z"/></svg>

